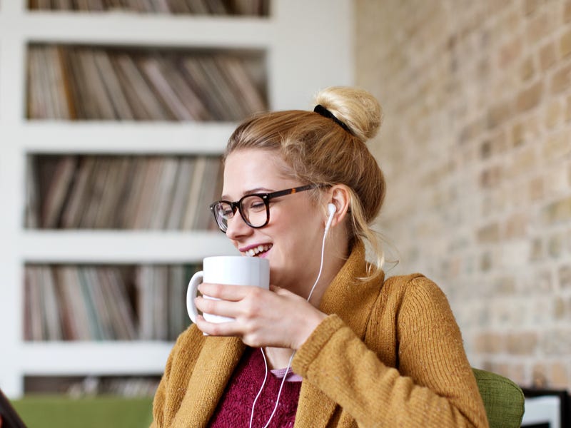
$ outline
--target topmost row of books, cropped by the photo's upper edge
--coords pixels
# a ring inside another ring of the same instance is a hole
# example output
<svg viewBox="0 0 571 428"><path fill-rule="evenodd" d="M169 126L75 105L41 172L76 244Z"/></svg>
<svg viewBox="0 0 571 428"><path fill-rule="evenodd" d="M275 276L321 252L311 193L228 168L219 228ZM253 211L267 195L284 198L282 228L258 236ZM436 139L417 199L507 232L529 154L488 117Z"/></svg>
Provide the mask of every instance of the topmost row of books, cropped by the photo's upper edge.
<svg viewBox="0 0 571 428"><path fill-rule="evenodd" d="M268 0L29 0L28 7L42 10L268 15Z"/></svg>

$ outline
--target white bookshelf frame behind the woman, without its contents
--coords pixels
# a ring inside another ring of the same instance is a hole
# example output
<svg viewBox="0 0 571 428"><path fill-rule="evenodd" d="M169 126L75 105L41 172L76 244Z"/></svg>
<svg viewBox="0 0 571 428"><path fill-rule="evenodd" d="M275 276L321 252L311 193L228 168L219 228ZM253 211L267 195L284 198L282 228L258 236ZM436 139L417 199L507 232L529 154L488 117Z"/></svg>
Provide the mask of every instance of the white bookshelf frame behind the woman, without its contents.
<svg viewBox="0 0 571 428"><path fill-rule="evenodd" d="M26 230L31 154L216 154L235 123L29 121L29 44L264 51L272 110L309 108L313 93L353 82L350 0L274 0L264 18L125 12L27 11L0 4L0 387L23 392L26 375L161 374L171 342L25 342L26 263L196 263L233 253L222 233Z"/></svg>

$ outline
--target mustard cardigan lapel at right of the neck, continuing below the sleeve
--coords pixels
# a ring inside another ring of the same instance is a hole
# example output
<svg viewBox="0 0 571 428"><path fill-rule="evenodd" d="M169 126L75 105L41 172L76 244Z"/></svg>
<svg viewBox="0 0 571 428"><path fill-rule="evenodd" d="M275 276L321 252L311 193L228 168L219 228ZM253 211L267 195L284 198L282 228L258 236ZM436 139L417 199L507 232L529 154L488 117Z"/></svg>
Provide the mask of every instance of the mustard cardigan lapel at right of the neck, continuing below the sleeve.
<svg viewBox="0 0 571 428"><path fill-rule="evenodd" d="M360 282L355 279L366 274L365 246L357 243L345 265L325 290L319 306L326 314L338 315L362 340L370 312L380 293L380 284L384 280L384 272L373 281ZM324 392L305 380L301 384L299 403L295 427L327 427L337 407L337 403ZM315 412L315 409L319 409L319 412Z"/></svg>

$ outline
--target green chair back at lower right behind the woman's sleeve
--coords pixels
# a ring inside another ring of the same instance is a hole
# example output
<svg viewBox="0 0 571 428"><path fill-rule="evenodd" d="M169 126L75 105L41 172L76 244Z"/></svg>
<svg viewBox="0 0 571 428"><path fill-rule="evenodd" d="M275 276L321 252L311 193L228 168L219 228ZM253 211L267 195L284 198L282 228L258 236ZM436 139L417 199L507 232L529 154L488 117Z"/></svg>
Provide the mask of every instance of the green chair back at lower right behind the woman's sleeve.
<svg viewBox="0 0 571 428"><path fill-rule="evenodd" d="M520 428L525 402L522 389L500 374L480 369L473 372L490 428Z"/></svg>

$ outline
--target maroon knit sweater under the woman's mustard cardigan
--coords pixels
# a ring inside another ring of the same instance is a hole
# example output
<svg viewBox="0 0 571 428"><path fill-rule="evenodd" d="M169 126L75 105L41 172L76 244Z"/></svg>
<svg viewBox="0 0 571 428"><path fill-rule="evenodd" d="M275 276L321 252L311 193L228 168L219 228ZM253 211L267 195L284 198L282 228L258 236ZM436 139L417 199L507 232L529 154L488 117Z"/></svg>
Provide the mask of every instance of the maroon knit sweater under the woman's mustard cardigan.
<svg viewBox="0 0 571 428"><path fill-rule="evenodd" d="M211 428L248 428L252 404L262 386L266 370L263 364L262 352L259 349L247 348L226 391L222 395L209 426ZM280 389L282 378L268 373L266 386L256 402L253 428L262 428L268 422ZM286 380L281 391L280 404L273 415L269 427L293 427L295 412L298 409L298 399L301 382Z"/></svg>

